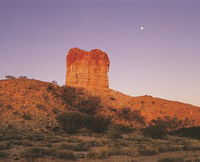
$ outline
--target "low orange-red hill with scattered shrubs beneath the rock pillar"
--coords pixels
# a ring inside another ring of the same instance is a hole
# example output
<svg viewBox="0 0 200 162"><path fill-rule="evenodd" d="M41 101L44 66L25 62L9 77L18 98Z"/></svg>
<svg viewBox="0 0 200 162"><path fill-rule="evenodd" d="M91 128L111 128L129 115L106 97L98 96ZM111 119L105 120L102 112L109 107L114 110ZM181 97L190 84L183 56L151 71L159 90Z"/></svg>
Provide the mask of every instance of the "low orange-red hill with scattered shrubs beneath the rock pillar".
<svg viewBox="0 0 200 162"><path fill-rule="evenodd" d="M84 105L86 109L99 106L98 113L132 127L143 127L152 119L166 116L200 125L200 108L189 104L151 96L131 97L112 89L87 91L33 79L0 80L1 127L52 129L57 126L56 115Z"/></svg>

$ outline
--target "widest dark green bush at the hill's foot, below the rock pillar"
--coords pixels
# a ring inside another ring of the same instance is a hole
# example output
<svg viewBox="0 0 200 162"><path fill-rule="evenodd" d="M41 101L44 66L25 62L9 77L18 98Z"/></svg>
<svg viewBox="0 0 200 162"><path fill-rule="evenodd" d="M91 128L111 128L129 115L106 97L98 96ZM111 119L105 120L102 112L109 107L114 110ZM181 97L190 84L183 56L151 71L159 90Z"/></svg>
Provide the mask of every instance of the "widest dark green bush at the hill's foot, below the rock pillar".
<svg viewBox="0 0 200 162"><path fill-rule="evenodd" d="M102 115L87 115L81 112L68 112L56 117L61 128L67 133L77 133L81 128L103 133L111 123L111 118Z"/></svg>

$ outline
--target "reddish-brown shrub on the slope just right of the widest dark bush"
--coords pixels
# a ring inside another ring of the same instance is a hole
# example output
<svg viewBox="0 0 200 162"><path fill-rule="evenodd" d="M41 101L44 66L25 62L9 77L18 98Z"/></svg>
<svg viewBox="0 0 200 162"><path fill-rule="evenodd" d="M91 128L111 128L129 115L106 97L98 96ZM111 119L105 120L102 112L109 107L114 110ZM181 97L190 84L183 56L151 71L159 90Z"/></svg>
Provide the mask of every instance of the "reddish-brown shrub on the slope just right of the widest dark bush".
<svg viewBox="0 0 200 162"><path fill-rule="evenodd" d="M132 111L128 107L121 108L120 110L118 110L117 116L120 119L124 119L124 120L128 120L128 121L136 121L136 122L139 122L142 124L145 123L144 117L141 115L141 112L139 110Z"/></svg>

